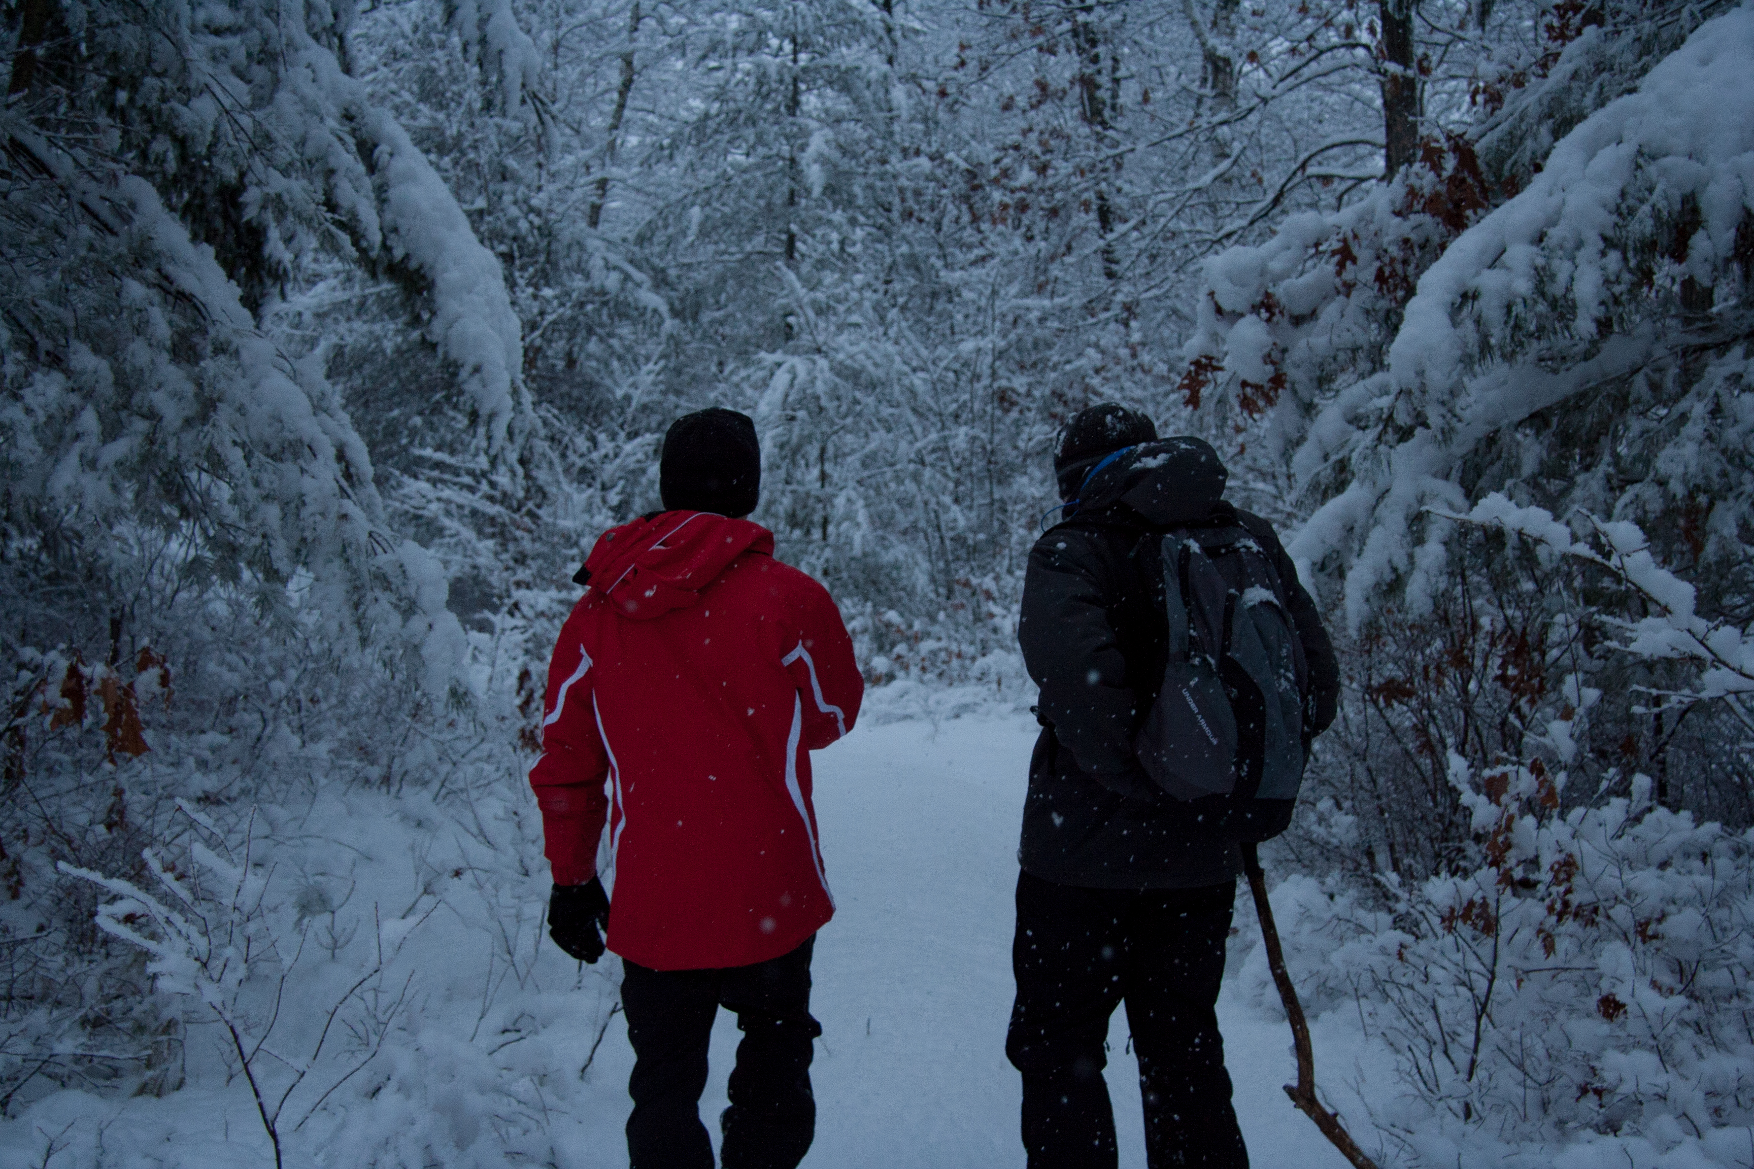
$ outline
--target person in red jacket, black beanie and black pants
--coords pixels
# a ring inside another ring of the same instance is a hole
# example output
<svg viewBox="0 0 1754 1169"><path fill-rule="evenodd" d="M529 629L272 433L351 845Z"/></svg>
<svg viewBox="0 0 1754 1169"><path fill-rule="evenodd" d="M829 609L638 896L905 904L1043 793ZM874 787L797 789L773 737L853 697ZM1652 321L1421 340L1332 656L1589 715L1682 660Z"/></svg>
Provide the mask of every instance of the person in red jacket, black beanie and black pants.
<svg viewBox="0 0 1754 1169"><path fill-rule="evenodd" d="M835 899L810 752L852 729L865 682L828 591L742 519L759 478L747 415L677 419L665 510L598 538L549 664L530 771L549 934L584 962L605 945L623 959L631 1169L712 1169L698 1106L721 1006L744 1032L723 1165L793 1169L816 1136L810 948Z"/></svg>

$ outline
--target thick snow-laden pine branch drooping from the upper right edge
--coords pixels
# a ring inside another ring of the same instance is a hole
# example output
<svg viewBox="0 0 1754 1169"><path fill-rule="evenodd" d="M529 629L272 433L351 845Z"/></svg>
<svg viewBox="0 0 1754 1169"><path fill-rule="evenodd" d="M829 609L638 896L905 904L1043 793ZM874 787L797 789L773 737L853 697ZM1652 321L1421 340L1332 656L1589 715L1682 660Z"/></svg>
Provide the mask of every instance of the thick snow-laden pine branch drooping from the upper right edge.
<svg viewBox="0 0 1754 1169"><path fill-rule="evenodd" d="M1515 482L1542 503L1656 517L1714 470L1686 454L1701 440L1675 422L1719 410L1728 433L1703 443L1740 459L1747 421L1726 396L1745 377L1754 326L1736 244L1754 216L1750 65L1754 14L1703 25L1458 237L1419 279L1386 368L1321 407L1293 466L1328 501L1293 554L1345 577L1354 624L1396 578L1419 603L1421 566L1442 556L1442 536L1419 531L1421 508ZM1540 457L1540 445L1587 449L1580 428L1615 435L1631 482L1610 489L1624 473ZM1701 556L1740 554L1728 533L1745 491L1703 517L1722 535Z"/></svg>

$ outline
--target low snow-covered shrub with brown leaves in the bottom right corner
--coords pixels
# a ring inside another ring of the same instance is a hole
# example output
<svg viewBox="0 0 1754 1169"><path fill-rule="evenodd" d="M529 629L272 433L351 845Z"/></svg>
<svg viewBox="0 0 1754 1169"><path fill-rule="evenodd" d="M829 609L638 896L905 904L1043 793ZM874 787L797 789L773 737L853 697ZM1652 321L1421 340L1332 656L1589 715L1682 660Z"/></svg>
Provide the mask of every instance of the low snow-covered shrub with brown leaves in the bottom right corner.
<svg viewBox="0 0 1754 1169"><path fill-rule="evenodd" d="M1540 768L1454 762L1482 864L1391 887L1394 925L1331 955L1412 1088L1387 1130L1445 1165L1745 1132L1754 834L1651 806L1645 776L1559 813Z"/></svg>

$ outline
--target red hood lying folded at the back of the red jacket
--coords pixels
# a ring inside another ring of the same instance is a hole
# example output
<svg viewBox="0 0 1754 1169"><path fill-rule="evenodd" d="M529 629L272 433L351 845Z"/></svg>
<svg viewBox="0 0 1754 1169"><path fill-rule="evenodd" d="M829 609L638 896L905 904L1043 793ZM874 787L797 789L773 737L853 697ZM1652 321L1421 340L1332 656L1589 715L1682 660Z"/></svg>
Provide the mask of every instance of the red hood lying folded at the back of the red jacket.
<svg viewBox="0 0 1754 1169"><path fill-rule="evenodd" d="M774 552L774 533L712 512L660 512L610 528L579 573L630 620L688 608L744 552Z"/></svg>

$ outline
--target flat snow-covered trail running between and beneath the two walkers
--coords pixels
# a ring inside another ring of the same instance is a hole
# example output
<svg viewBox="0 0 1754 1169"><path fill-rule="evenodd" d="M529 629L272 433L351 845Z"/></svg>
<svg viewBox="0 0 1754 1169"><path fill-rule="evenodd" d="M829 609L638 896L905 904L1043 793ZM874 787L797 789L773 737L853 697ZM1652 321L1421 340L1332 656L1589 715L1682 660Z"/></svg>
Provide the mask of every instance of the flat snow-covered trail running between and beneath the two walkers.
<svg viewBox="0 0 1754 1169"><path fill-rule="evenodd" d="M816 754L816 806L838 911L816 948L819 1118L805 1165L1023 1165L1005 1020L1017 824L1033 740L1026 717L968 717L937 729L859 727ZM1238 903L1238 920L1251 915ZM1233 985L1219 1010L1252 1164L1344 1169L1280 1090L1293 1078L1286 1025L1237 1001ZM1121 1165L1142 1167L1138 1073L1126 1053L1124 1013L1114 1018L1109 1087ZM721 1013L702 1101L709 1129L724 1108L737 1039L733 1017ZM630 1064L617 1020L593 1066L591 1097L603 1111L586 1125L593 1148L581 1164L616 1164L603 1160L598 1141L610 1141L626 1116Z"/></svg>

